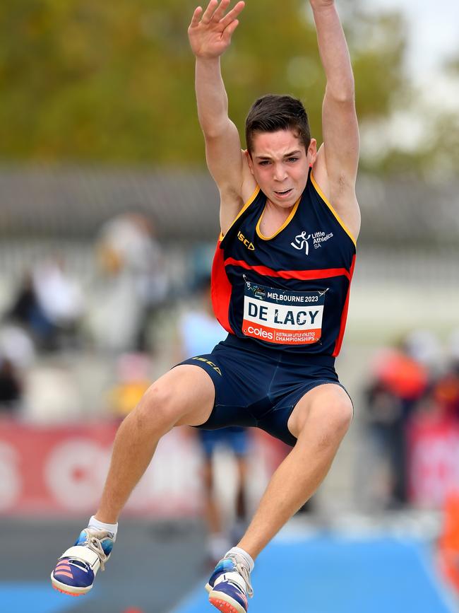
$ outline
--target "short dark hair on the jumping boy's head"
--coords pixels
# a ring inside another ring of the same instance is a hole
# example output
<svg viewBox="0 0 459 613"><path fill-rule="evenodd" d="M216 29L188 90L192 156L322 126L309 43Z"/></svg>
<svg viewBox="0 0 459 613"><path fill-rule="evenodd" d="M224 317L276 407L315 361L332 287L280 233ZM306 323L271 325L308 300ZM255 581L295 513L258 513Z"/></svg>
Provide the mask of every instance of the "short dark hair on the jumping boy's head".
<svg viewBox="0 0 459 613"><path fill-rule="evenodd" d="M253 151L254 134L289 129L298 132L297 136L307 151L311 130L302 101L290 95L263 95L255 100L246 117L247 150L249 153Z"/></svg>

